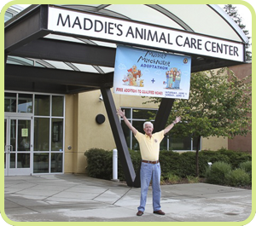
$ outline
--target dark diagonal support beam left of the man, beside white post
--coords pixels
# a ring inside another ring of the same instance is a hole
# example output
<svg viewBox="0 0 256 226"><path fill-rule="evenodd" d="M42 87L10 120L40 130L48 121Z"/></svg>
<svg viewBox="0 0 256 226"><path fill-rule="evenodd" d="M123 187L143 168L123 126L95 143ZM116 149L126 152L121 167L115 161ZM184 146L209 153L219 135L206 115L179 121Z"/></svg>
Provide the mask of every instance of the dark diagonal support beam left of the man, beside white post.
<svg viewBox="0 0 256 226"><path fill-rule="evenodd" d="M119 152L119 158L125 173L126 183L130 187L135 187L133 182L135 179L135 171L131 162L131 156L125 142L125 135L119 123L119 118L116 114L116 107L113 101L113 96L110 88L102 88L102 97L108 113L109 123L113 132L114 142Z"/></svg>

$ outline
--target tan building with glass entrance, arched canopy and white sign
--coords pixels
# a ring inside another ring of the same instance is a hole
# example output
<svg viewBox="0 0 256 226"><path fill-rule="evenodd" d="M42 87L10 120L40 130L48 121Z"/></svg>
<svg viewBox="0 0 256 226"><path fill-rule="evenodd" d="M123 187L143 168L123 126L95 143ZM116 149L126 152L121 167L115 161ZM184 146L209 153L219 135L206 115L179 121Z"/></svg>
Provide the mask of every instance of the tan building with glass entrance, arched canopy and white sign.
<svg viewBox="0 0 256 226"><path fill-rule="evenodd" d="M12 6L5 18L16 11ZM201 20L206 15L211 20ZM126 26L156 29L155 36L129 38ZM166 39L172 32L176 43ZM134 182L127 152L137 143L115 109L124 107L136 126L158 110L154 129L160 130L173 100L164 98L158 109L140 97L112 94L119 43L190 55L191 72L198 72L245 62L247 38L216 5L32 5L21 11L5 22L5 175L84 173L86 150L117 147L128 183ZM194 149L190 137L166 137L162 146ZM201 148L222 147L227 139L201 141Z"/></svg>

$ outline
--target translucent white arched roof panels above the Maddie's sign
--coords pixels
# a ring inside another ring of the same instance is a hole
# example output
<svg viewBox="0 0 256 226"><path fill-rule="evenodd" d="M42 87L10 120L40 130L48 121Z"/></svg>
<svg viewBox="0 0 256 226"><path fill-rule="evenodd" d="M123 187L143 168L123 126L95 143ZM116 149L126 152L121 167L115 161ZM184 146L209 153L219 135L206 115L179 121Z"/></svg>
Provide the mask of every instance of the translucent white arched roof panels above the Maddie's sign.
<svg viewBox="0 0 256 226"><path fill-rule="evenodd" d="M188 32L247 43L247 37L218 5L212 4L95 4L66 5L69 9L172 27Z"/></svg>

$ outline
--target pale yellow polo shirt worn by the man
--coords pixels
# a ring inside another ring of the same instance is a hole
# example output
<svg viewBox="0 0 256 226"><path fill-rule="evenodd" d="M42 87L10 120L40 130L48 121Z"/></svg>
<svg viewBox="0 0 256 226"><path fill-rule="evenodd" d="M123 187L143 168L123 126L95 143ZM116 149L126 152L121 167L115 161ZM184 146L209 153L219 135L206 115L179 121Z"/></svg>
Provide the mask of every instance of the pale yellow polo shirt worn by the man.
<svg viewBox="0 0 256 226"><path fill-rule="evenodd" d="M159 159L160 142L164 137L164 130L152 134L151 138L137 130L135 138L139 142L143 160L156 161Z"/></svg>

